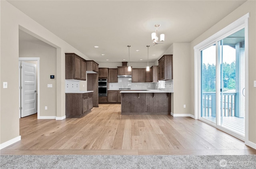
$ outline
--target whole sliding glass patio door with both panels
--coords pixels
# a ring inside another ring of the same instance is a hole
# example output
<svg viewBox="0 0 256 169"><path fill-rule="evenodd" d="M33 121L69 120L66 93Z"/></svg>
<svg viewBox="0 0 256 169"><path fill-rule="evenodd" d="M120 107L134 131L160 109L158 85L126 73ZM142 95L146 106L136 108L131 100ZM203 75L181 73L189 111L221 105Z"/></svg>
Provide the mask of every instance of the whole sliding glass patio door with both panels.
<svg viewBox="0 0 256 169"><path fill-rule="evenodd" d="M201 119L245 136L244 29L201 50Z"/></svg>

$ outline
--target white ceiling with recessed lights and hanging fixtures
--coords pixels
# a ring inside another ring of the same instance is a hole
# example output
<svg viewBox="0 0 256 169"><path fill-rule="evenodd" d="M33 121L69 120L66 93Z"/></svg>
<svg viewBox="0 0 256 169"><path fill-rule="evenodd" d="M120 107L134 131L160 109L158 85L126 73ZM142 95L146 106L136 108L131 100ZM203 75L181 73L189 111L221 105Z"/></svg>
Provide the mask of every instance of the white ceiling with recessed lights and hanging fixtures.
<svg viewBox="0 0 256 169"><path fill-rule="evenodd" d="M139 63L147 61L146 45L150 45L149 62L154 62L172 43L191 42L245 1L8 0L8 2L97 63L116 63L122 62L123 59L128 61L127 45L131 45L130 62ZM153 45L151 40L155 24L161 25L158 33L165 34L164 43L158 45ZM22 42L22 39L20 41ZM99 47L94 48L94 46Z"/></svg>

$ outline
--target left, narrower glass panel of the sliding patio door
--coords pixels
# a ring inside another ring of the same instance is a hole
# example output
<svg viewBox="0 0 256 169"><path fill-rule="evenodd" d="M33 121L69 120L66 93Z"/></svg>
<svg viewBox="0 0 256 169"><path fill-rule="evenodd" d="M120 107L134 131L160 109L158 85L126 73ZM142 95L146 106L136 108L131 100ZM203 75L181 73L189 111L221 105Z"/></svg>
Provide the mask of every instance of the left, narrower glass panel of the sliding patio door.
<svg viewBox="0 0 256 169"><path fill-rule="evenodd" d="M201 117L216 122L216 45L201 51Z"/></svg>

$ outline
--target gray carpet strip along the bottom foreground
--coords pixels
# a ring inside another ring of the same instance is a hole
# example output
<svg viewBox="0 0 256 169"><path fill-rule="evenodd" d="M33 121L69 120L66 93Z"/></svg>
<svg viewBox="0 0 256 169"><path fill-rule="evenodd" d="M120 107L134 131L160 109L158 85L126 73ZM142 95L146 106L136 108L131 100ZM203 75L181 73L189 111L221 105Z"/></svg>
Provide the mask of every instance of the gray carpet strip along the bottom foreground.
<svg viewBox="0 0 256 169"><path fill-rule="evenodd" d="M1 169L256 169L256 155L0 155Z"/></svg>

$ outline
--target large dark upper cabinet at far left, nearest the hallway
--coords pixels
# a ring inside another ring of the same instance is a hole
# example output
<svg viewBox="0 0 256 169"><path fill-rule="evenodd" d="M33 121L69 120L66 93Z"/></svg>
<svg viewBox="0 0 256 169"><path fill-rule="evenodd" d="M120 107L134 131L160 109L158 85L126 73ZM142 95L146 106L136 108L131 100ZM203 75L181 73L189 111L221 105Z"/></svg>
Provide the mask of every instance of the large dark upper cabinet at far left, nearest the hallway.
<svg viewBox="0 0 256 169"><path fill-rule="evenodd" d="M75 53L65 53L65 79L86 80L86 60Z"/></svg>

